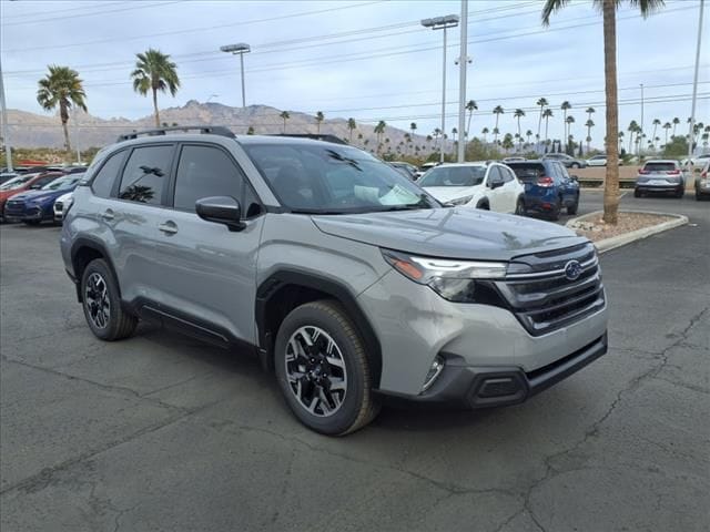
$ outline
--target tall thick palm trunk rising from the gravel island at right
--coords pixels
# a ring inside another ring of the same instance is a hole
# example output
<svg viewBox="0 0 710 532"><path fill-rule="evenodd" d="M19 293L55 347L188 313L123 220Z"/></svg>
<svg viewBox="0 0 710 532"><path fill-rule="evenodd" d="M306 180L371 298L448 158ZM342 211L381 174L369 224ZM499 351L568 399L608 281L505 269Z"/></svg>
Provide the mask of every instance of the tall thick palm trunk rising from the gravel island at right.
<svg viewBox="0 0 710 532"><path fill-rule="evenodd" d="M616 225L619 212L619 102L617 88L617 2L604 2L604 70L607 100L607 177L604 221Z"/></svg>

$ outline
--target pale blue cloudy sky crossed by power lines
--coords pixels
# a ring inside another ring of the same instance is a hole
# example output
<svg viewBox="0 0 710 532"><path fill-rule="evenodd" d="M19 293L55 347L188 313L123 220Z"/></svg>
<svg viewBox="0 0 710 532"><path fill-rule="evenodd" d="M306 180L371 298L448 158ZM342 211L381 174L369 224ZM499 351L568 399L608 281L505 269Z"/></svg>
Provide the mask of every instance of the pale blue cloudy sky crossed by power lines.
<svg viewBox="0 0 710 532"><path fill-rule="evenodd" d="M626 2L623 2L626 3ZM667 0L665 10L643 20L628 6L618 14L620 124L640 121L645 84L646 131L651 121L690 115L698 0ZM1 59L8 106L40 113L37 80L47 64L69 65L84 80L89 111L98 116L135 119L151 112L150 99L132 91L134 54L149 47L170 53L182 88L163 95L161 106L209 99L241 104L239 60L220 45L247 42L247 104L265 104L327 119L355 117L418 133L438 126L442 95L442 32L420 27L423 18L460 14L458 1L38 1L0 2ZM535 102L545 96L555 119L550 136L561 136L559 104L568 100L575 137L586 136L585 109L592 105L592 137L604 136L601 17L589 1L572 1L540 24L541 2L469 0L466 99L478 102L471 131L493 129L494 106L506 114L501 132L515 133L513 111L527 116L521 130L537 132ZM710 28L701 54L698 120L710 123ZM458 100L459 30L449 30L447 113ZM447 132L456 126L447 117ZM683 127L681 125L680 127ZM683 130L684 131L684 130ZM659 127L657 136L663 137Z"/></svg>

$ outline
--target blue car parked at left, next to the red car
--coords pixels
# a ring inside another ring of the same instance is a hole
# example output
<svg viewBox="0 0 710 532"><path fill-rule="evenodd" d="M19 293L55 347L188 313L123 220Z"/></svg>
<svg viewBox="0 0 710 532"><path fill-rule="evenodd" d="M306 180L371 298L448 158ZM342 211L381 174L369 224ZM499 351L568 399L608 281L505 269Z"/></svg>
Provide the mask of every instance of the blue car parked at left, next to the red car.
<svg viewBox="0 0 710 532"><path fill-rule="evenodd" d="M28 225L39 225L44 221L54 221L54 201L68 192L77 188L84 174L70 174L58 177L39 191L29 191L12 196L4 204L4 219L7 222L24 222Z"/></svg>

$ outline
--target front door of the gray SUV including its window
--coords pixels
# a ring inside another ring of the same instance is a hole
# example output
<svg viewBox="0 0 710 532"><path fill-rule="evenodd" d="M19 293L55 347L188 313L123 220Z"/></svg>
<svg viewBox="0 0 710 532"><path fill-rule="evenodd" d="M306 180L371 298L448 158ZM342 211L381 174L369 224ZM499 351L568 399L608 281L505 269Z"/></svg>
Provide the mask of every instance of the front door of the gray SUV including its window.
<svg viewBox="0 0 710 532"><path fill-rule="evenodd" d="M199 217L195 202L211 196L237 200L244 229L231 232ZM203 327L215 340L255 342L256 258L264 216L244 172L216 144L182 144L169 204L155 221L155 267L165 311Z"/></svg>

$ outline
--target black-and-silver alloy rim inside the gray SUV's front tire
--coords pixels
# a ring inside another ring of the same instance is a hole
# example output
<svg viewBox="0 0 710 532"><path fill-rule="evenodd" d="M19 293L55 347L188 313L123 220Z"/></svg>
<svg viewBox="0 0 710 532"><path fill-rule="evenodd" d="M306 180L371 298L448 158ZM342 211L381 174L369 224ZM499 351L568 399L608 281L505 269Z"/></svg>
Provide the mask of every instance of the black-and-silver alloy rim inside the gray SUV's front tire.
<svg viewBox="0 0 710 532"><path fill-rule="evenodd" d="M341 348L323 329L298 328L286 345L288 388L313 416L333 416L347 393L347 370Z"/></svg>

